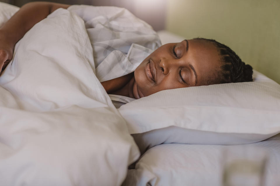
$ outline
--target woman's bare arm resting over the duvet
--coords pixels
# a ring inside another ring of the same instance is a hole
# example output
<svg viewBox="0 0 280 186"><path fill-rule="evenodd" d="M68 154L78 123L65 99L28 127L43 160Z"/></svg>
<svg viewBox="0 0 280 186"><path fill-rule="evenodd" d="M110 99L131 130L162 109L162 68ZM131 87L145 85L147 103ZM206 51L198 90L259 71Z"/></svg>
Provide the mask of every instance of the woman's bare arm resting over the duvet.
<svg viewBox="0 0 280 186"><path fill-rule="evenodd" d="M13 49L18 40L29 31L36 23L45 19L50 13L58 8L68 8L70 5L49 3L49 2L31 2L20 8L0 28L0 72L5 69L13 58Z"/></svg>

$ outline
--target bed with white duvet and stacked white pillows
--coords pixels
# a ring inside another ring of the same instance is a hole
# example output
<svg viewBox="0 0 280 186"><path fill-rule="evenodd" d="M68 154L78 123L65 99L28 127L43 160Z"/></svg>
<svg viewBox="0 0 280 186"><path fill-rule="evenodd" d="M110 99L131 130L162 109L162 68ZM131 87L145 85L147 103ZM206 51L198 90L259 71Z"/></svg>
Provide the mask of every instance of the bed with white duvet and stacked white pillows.
<svg viewBox="0 0 280 186"><path fill-rule="evenodd" d="M17 11L0 8L1 23ZM47 38L37 34L46 25ZM57 10L35 28L0 78L0 185L279 185L278 83L254 71L254 82L161 91L116 109L83 20Z"/></svg>

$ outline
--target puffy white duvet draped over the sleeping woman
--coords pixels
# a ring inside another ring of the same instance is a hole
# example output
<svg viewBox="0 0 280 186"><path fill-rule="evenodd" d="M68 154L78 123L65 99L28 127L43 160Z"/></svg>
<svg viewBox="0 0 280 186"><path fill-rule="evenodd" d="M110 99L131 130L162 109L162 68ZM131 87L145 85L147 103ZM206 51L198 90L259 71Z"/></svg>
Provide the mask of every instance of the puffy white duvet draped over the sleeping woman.
<svg viewBox="0 0 280 186"><path fill-rule="evenodd" d="M0 185L120 185L139 157L74 13L31 28L0 85Z"/></svg>

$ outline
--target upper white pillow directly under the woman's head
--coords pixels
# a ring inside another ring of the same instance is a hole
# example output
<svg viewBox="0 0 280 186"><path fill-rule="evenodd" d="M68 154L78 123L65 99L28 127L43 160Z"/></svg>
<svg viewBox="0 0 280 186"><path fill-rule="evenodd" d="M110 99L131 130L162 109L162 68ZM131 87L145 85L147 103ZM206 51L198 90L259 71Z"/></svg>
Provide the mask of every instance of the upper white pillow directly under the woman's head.
<svg viewBox="0 0 280 186"><path fill-rule="evenodd" d="M280 85L254 82L164 90L118 110L140 151L161 143L245 144L280 132Z"/></svg>

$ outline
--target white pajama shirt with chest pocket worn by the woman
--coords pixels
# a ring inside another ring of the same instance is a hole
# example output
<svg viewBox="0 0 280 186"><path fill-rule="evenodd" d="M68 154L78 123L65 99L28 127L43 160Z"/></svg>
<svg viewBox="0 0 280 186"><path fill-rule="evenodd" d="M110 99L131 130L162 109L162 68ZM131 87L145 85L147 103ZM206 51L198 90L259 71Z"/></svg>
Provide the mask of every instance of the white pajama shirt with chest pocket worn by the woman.
<svg viewBox="0 0 280 186"><path fill-rule="evenodd" d="M85 21L100 82L133 72L161 46L153 28L125 8L73 5L68 10ZM110 97L116 108L132 101L125 96Z"/></svg>

